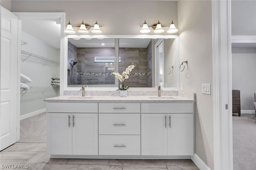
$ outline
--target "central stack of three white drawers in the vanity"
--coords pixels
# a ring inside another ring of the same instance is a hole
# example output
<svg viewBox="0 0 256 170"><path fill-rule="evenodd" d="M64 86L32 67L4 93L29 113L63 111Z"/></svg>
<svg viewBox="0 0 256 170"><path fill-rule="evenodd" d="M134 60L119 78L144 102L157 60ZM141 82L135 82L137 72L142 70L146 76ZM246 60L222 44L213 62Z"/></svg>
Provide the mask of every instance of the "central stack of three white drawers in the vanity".
<svg viewBox="0 0 256 170"><path fill-rule="evenodd" d="M140 155L140 103L99 103L99 155Z"/></svg>

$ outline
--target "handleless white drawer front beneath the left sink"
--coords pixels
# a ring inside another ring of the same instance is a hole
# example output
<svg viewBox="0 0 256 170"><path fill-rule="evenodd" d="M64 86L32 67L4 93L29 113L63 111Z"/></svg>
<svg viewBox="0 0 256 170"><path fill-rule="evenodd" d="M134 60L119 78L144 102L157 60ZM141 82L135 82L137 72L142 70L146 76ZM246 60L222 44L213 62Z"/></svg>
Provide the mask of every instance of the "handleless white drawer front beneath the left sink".
<svg viewBox="0 0 256 170"><path fill-rule="evenodd" d="M47 102L48 113L98 113L98 103Z"/></svg>

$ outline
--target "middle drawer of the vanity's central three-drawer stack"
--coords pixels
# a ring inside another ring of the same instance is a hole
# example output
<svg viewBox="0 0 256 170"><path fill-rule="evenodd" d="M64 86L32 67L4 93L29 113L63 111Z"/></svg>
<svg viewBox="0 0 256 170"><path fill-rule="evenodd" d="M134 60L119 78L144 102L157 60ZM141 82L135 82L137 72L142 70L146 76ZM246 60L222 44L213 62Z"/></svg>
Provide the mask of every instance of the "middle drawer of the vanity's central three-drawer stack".
<svg viewBox="0 0 256 170"><path fill-rule="evenodd" d="M140 134L140 114L99 113L99 134Z"/></svg>

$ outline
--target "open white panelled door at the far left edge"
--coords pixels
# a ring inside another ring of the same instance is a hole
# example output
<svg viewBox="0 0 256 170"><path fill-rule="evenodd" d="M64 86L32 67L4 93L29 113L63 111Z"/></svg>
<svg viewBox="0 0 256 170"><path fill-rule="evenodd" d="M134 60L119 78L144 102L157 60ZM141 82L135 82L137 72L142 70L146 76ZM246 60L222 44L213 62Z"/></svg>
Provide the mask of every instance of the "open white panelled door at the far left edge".
<svg viewBox="0 0 256 170"><path fill-rule="evenodd" d="M17 141L18 18L1 6L0 150Z"/></svg>

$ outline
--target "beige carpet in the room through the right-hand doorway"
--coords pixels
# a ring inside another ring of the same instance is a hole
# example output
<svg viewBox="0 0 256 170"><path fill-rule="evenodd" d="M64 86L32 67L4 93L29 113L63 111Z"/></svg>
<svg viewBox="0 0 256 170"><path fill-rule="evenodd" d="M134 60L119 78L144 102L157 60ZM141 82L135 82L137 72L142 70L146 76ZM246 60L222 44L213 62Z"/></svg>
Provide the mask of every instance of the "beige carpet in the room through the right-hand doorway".
<svg viewBox="0 0 256 170"><path fill-rule="evenodd" d="M256 119L252 114L233 116L234 170L256 169Z"/></svg>

